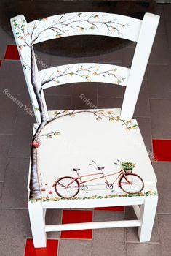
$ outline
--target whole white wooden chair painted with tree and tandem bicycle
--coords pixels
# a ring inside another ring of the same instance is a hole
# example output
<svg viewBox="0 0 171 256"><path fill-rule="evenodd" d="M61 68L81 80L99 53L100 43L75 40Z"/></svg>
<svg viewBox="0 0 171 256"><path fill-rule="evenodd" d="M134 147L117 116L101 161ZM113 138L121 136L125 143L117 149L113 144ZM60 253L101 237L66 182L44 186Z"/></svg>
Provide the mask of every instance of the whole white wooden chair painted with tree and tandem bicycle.
<svg viewBox="0 0 171 256"><path fill-rule="evenodd" d="M31 23L23 15L11 19L37 121L28 178L28 209L35 247L46 246L46 233L50 231L105 227L138 226L140 241L150 241L158 199L156 176L132 116L158 23L159 16L151 13L146 13L143 20L103 12L68 13ZM34 44L82 34L137 42L131 68L81 63L38 70ZM44 89L90 81L127 86L122 109L47 111ZM113 174L119 170L120 180L114 183ZM45 224L47 208L130 205L135 210L135 220Z"/></svg>

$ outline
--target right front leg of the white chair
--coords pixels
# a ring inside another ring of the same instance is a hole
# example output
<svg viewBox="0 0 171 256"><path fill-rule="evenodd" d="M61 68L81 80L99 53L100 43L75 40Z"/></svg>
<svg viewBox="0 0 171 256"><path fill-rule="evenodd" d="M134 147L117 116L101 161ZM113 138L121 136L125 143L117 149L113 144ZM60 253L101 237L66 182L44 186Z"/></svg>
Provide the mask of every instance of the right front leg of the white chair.
<svg viewBox="0 0 171 256"><path fill-rule="evenodd" d="M138 227L138 236L140 242L148 242L151 239L151 233L156 215L158 197L147 196L145 203L140 206L140 221L141 226Z"/></svg>

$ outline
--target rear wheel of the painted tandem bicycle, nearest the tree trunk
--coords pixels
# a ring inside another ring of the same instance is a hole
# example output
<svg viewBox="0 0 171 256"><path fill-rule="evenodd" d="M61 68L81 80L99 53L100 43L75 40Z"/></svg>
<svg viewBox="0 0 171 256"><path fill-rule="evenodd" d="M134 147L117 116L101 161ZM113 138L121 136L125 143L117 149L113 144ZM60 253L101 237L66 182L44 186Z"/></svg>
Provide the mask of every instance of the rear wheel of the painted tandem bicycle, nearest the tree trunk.
<svg viewBox="0 0 171 256"><path fill-rule="evenodd" d="M79 193L79 182L70 176L59 178L55 184L55 192L65 199L75 197Z"/></svg>

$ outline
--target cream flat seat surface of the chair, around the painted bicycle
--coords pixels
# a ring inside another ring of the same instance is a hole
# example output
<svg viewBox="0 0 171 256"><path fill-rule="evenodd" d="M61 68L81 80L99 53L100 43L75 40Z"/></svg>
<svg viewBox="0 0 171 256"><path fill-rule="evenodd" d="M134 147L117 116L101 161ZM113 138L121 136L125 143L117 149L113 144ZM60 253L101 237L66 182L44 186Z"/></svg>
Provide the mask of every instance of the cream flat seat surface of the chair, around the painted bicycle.
<svg viewBox="0 0 171 256"><path fill-rule="evenodd" d="M57 195L52 186L57 179L76 178L78 173L84 176L82 181L87 182L72 200L127 196L118 186L118 181L111 188L106 187L104 178L98 178L102 176L102 171L109 175L121 170L119 165L114 164L117 160L135 164L132 173L144 182L144 188L138 195L156 193L156 176L135 119L121 120L120 109L49 111L50 118L55 116L57 119L41 130L41 143L37 148L43 200L68 200ZM95 168L96 165L100 168ZM117 176L108 176L109 184Z"/></svg>

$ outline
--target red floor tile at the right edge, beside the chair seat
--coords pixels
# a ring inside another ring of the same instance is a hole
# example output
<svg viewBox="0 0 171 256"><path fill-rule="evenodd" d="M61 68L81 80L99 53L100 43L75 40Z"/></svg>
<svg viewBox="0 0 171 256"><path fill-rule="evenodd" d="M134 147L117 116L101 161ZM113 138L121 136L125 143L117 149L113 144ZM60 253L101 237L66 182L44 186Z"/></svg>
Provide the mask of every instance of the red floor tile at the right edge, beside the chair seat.
<svg viewBox="0 0 171 256"><path fill-rule="evenodd" d="M171 161L171 140L153 140L154 161Z"/></svg>

